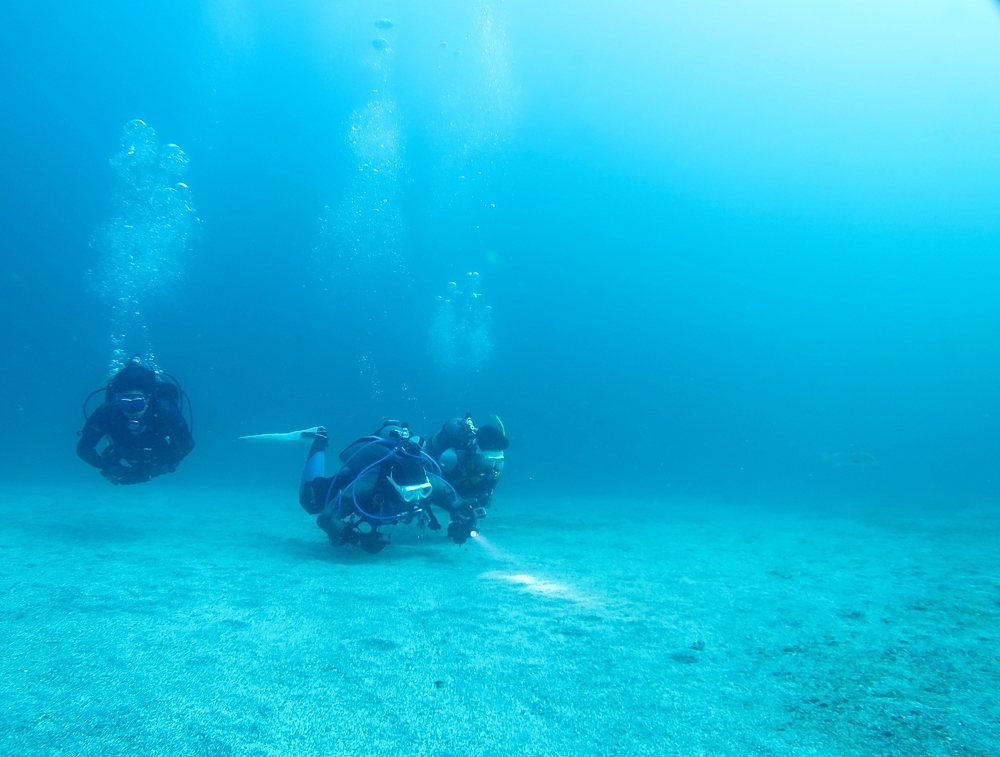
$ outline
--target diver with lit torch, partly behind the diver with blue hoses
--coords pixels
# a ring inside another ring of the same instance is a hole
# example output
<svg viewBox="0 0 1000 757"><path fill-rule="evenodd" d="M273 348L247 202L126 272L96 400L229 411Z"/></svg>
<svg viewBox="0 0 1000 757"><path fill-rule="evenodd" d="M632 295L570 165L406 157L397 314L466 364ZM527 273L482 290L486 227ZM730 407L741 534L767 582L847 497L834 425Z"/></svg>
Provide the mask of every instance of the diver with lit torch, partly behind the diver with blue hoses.
<svg viewBox="0 0 1000 757"><path fill-rule="evenodd" d="M510 446L503 423L476 428L472 415L452 418L423 443L423 450L440 467L441 477L458 496L452 505L448 536L462 544L478 528L480 518L493 499L493 490L503 470L503 451Z"/></svg>

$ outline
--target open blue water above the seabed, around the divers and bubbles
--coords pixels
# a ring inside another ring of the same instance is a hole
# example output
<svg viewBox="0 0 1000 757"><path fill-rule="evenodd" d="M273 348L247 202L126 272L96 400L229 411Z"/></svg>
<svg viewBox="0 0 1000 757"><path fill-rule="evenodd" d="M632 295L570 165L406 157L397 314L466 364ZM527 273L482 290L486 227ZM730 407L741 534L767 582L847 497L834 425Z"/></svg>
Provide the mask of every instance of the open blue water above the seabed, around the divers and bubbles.
<svg viewBox="0 0 1000 757"><path fill-rule="evenodd" d="M281 475L241 433L469 410L509 426L511 490L1000 491L995 3L4 15L4 475L88 473L75 406L112 327L86 272L141 118L199 219L142 315L195 400L191 480ZM392 228L348 249L352 114L380 102ZM492 349L449 371L435 297L468 271ZM878 463L821 465L845 450Z"/></svg>

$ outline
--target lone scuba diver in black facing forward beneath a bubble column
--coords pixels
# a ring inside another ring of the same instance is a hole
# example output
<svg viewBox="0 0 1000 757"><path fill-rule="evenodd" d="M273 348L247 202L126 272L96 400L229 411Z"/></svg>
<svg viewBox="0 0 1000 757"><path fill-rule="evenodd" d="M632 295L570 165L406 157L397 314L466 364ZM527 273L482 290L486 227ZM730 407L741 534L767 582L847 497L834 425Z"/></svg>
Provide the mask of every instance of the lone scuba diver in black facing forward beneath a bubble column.
<svg viewBox="0 0 1000 757"><path fill-rule="evenodd" d="M194 449L181 412L187 395L176 379L163 375L170 380L158 377L135 355L107 386L91 392L83 403L86 423L78 432L76 454L116 486L142 484L172 473ZM104 392L104 402L87 415L91 397L100 392Z"/></svg>

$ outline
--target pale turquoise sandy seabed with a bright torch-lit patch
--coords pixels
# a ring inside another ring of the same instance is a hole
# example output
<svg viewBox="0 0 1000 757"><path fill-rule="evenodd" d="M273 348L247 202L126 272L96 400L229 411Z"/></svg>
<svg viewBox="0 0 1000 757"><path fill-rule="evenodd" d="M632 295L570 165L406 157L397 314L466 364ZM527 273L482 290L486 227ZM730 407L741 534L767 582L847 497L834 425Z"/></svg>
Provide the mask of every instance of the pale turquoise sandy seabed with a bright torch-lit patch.
<svg viewBox="0 0 1000 757"><path fill-rule="evenodd" d="M103 482L101 482L103 483ZM1000 517L5 487L0 755L997 755Z"/></svg>

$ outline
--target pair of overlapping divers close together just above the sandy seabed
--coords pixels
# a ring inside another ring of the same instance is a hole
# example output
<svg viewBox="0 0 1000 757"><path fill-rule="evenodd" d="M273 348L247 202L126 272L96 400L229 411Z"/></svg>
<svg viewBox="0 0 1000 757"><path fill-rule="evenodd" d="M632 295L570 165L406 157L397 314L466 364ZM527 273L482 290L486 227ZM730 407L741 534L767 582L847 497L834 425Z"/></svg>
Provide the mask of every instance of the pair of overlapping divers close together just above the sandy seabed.
<svg viewBox="0 0 1000 757"><path fill-rule="evenodd" d="M383 527L416 523L441 530L435 507L449 515L448 537L464 544L486 517L510 444L496 416L479 428L471 415L454 418L426 440L413 436L405 421L390 420L348 445L340 469L328 477L329 437L322 426L256 438L311 438L299 504L317 516L331 543L372 554L389 543Z"/></svg>

